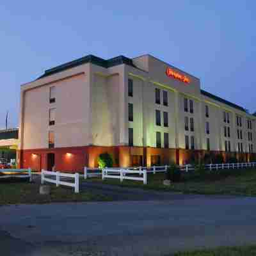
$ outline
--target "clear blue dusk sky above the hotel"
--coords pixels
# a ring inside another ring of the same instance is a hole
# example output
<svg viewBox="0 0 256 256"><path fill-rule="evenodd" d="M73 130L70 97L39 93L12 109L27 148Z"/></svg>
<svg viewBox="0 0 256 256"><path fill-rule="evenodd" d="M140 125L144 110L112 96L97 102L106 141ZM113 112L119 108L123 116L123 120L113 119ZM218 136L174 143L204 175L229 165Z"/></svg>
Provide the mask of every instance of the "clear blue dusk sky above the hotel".
<svg viewBox="0 0 256 256"><path fill-rule="evenodd" d="M256 1L6 1L0 3L0 128L19 124L20 84L94 54L152 54L201 87L256 111Z"/></svg>

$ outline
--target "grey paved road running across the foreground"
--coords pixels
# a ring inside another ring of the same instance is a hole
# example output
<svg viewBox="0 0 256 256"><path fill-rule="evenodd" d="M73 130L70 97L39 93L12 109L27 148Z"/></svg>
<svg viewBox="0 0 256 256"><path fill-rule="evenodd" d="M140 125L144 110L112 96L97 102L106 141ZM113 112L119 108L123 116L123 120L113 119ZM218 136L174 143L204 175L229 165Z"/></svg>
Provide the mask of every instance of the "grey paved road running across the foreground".
<svg viewBox="0 0 256 256"><path fill-rule="evenodd" d="M4 206L0 254L164 255L202 246L255 243L255 212L256 198L189 195Z"/></svg>

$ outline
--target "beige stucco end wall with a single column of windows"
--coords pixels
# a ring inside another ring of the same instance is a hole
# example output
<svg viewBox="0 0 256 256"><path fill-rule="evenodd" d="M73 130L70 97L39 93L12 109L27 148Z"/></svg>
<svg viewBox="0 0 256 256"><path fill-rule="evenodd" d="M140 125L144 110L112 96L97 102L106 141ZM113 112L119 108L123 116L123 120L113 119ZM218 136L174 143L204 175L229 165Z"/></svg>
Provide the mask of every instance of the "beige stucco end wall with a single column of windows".
<svg viewBox="0 0 256 256"><path fill-rule="evenodd" d="M72 68L22 86L20 148L47 148L48 132L54 131L55 147L88 143L90 124L89 67ZM49 103L49 90L56 86L56 102ZM56 109L55 125L49 126L49 109Z"/></svg>

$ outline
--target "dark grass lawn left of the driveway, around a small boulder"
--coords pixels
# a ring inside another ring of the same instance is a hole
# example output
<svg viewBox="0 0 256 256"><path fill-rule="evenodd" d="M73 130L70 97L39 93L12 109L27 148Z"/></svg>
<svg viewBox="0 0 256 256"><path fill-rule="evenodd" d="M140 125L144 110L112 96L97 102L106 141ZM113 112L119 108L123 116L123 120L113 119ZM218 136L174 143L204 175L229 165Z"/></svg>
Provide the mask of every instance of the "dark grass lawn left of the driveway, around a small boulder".
<svg viewBox="0 0 256 256"><path fill-rule="evenodd" d="M51 195L39 194L40 184L28 181L7 180L0 181L0 205L6 204L46 204L52 202L88 202L108 201L104 195L95 195L88 191L74 193L74 189L68 187L51 186Z"/></svg>

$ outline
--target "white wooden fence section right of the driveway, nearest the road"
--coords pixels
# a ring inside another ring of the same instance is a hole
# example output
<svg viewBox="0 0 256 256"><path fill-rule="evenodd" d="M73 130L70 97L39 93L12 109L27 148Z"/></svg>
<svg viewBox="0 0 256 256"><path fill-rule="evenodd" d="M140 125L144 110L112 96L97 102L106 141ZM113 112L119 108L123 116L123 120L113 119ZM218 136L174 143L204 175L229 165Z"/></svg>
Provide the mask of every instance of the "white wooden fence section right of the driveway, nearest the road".
<svg viewBox="0 0 256 256"><path fill-rule="evenodd" d="M143 177L131 176L127 174L143 174ZM104 168L102 170L102 180L104 179L120 179L123 180L139 180L143 181L143 184L147 184L147 169L139 170L128 170L123 168Z"/></svg>

